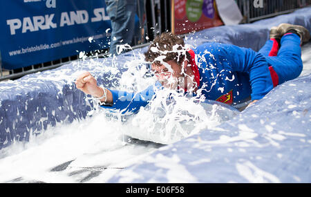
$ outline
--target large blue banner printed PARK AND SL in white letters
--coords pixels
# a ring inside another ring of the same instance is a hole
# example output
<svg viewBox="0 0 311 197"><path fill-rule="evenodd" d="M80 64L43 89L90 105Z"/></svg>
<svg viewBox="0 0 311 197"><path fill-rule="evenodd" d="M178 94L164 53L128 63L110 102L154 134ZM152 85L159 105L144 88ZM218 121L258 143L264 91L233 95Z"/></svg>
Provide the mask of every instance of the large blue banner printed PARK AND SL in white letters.
<svg viewBox="0 0 311 197"><path fill-rule="evenodd" d="M10 0L0 6L2 68L13 69L109 48L103 0Z"/></svg>

